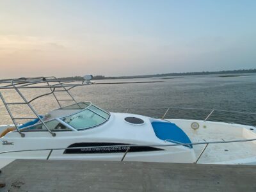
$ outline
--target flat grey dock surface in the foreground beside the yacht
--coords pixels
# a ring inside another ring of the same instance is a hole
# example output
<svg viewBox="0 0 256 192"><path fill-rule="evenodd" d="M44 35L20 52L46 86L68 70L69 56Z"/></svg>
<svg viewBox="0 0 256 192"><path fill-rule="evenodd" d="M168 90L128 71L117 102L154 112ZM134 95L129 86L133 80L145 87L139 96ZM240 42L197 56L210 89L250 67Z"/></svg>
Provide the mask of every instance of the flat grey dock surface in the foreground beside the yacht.
<svg viewBox="0 0 256 192"><path fill-rule="evenodd" d="M17 159L0 191L256 191L256 166Z"/></svg>

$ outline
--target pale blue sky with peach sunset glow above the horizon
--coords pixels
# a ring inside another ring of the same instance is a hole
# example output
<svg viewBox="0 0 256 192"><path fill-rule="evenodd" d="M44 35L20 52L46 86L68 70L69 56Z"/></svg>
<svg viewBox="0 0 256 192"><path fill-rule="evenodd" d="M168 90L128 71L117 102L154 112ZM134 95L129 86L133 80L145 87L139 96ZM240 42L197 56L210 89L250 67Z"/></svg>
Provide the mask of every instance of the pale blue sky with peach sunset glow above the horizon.
<svg viewBox="0 0 256 192"><path fill-rule="evenodd" d="M256 68L256 1L0 0L0 78Z"/></svg>

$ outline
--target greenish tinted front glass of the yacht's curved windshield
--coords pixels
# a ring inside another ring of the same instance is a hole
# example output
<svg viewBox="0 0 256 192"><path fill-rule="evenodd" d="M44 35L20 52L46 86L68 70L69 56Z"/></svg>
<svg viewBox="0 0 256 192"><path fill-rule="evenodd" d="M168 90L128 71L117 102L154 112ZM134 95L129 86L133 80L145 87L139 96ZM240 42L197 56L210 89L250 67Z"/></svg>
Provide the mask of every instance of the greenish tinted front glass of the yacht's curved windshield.
<svg viewBox="0 0 256 192"><path fill-rule="evenodd" d="M68 108L70 107L71 106L68 106ZM71 127L74 127L74 129L81 130L103 124L109 119L110 114L107 111L98 108L90 102L72 105L72 109L79 109L80 107L84 108L83 111L65 116L61 118L61 120Z"/></svg>

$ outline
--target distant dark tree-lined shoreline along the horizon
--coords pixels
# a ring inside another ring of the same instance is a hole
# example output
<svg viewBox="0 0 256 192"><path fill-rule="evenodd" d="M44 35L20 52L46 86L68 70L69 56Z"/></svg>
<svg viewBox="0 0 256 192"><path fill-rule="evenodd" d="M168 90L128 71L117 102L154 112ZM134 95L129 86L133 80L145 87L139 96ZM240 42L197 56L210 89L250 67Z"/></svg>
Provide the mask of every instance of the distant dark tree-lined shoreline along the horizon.
<svg viewBox="0 0 256 192"><path fill-rule="evenodd" d="M213 71L213 72L183 72L183 73L168 73L168 74L153 74L153 75L141 75L141 76L118 76L118 77L105 77L105 76L93 76L94 80L102 80L102 79L136 79L136 78L151 78L151 77L170 77L180 78L177 76L200 76L200 75L218 75L218 74L248 74L248 73L256 73L256 68L254 69L241 69L241 70L221 70L221 71ZM72 79L83 79L83 77L62 77L60 79L72 80ZM162 78L164 79L164 78ZM167 78L166 78L167 79Z"/></svg>

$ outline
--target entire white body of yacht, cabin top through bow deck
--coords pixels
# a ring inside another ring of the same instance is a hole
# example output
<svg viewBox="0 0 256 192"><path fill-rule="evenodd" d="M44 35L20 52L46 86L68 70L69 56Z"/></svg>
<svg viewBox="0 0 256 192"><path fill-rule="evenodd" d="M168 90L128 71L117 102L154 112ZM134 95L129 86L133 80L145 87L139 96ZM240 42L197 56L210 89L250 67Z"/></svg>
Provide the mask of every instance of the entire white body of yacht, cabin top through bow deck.
<svg viewBox="0 0 256 192"><path fill-rule="evenodd" d="M150 120L147 116L133 115L145 121L144 125L125 124L125 113L111 113L111 118L104 125L84 131L57 132L52 137L49 132L26 132L21 138L18 132L10 132L1 143L8 142L13 145L1 145L1 152L12 150L38 150L51 148L67 148L74 143L126 143L136 145L167 145L168 141L159 140L153 129L148 129ZM176 124L186 134L192 143L205 141L228 141L256 138L255 127L220 122L204 122L198 120L168 119ZM164 121L163 121L164 122ZM191 123L196 122L199 128L194 130ZM0 127L3 131L6 127ZM252 130L253 129L253 130ZM157 147L163 150L147 152L128 152L124 161L148 161L164 163L195 163L205 145L193 145L193 148L179 146ZM125 150L126 148L124 148ZM256 141L237 143L209 144L197 163L210 164L256 164ZM92 149L91 149L92 150ZM105 150L108 150L106 148ZM109 150L112 150L111 148ZM0 167L15 159L58 159L58 160L102 160L121 161L124 150L115 153L89 153L65 154L65 150L39 150L25 152L8 152L0 154Z"/></svg>

